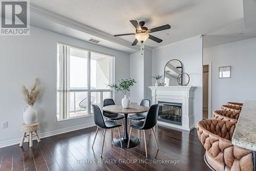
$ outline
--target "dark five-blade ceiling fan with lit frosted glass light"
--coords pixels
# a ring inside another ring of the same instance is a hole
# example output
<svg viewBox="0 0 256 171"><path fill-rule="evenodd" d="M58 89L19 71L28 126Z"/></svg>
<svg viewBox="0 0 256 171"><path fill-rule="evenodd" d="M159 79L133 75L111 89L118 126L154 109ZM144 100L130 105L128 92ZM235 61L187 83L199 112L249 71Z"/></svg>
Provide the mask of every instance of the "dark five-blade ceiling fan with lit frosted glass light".
<svg viewBox="0 0 256 171"><path fill-rule="evenodd" d="M138 41L143 43L147 38L152 39L152 40L160 43L163 40L161 40L160 38L157 38L155 36L152 36L149 33L170 29L170 25L163 25L163 26L159 26L159 27L156 27L156 28L153 28L153 29L147 29L146 27L144 27L145 22L143 22L143 21L138 23L136 20L130 20L130 22L136 28L135 33L116 34L114 36L117 37L117 36L135 35L136 39L134 40L132 46L137 45Z"/></svg>

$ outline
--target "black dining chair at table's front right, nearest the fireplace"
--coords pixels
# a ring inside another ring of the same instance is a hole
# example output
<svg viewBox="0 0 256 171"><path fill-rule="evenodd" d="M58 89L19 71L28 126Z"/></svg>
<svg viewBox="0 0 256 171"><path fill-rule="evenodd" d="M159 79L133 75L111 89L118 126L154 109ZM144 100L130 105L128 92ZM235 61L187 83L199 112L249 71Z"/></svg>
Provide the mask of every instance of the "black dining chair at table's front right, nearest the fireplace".
<svg viewBox="0 0 256 171"><path fill-rule="evenodd" d="M152 132L154 134L155 142L156 142L156 145L157 145L157 149L159 149L158 143L157 143L157 139L156 139L156 134L155 134L155 131L153 129L153 127L157 124L158 110L159 110L159 105L158 104L154 104L148 110L146 118L145 118L145 121L139 121L139 122L134 122L134 123L129 124L129 126L130 126L130 135L129 135L129 140L128 140L127 148L129 148L129 143L130 143L130 139L131 139L132 129L134 128L134 129L137 129L137 130L143 130L144 141L145 141L146 157L147 157L147 148L146 148L145 130L152 130Z"/></svg>

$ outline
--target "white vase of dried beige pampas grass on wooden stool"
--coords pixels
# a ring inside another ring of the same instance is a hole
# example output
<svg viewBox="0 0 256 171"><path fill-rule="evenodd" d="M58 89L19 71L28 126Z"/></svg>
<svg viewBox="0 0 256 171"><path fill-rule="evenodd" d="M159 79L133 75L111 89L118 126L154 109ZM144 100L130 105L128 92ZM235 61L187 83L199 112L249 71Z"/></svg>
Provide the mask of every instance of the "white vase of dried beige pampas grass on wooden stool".
<svg viewBox="0 0 256 171"><path fill-rule="evenodd" d="M25 86L22 87L22 94L28 104L23 108L23 119L25 124L33 124L37 119L37 111L34 109L33 105L41 91L41 88L38 87L38 85L39 79L35 78L35 81L30 91Z"/></svg>

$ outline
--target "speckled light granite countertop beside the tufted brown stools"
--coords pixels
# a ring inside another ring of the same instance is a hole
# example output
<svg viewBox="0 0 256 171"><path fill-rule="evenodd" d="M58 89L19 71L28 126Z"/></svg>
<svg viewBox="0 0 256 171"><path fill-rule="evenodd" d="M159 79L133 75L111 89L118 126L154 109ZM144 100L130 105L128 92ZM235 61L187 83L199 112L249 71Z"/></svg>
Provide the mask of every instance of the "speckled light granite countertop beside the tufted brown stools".
<svg viewBox="0 0 256 171"><path fill-rule="evenodd" d="M256 101L245 101L234 129L232 144L256 151Z"/></svg>

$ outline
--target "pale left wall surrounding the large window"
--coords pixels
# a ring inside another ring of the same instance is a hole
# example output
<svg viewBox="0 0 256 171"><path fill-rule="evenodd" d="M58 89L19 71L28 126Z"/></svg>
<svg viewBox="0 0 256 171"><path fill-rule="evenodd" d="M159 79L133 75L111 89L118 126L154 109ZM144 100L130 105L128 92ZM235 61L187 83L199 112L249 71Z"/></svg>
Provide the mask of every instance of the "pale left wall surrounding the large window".
<svg viewBox="0 0 256 171"><path fill-rule="evenodd" d="M0 123L8 121L8 128L0 128L0 146L4 141L20 138L23 106L22 84L30 87L35 77L44 88L35 108L38 110L40 132L92 123L93 117L56 122L56 66L57 41L115 56L115 80L129 78L129 54L104 48L50 31L30 28L30 36L1 36L0 38ZM123 95L116 94L116 102Z"/></svg>

